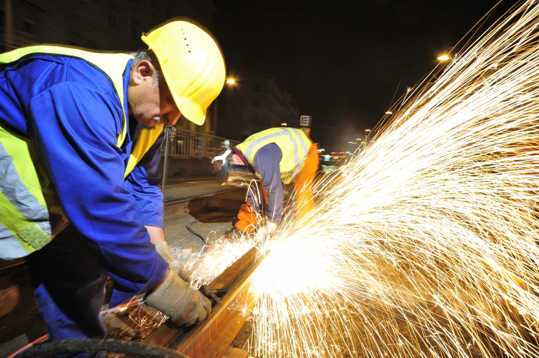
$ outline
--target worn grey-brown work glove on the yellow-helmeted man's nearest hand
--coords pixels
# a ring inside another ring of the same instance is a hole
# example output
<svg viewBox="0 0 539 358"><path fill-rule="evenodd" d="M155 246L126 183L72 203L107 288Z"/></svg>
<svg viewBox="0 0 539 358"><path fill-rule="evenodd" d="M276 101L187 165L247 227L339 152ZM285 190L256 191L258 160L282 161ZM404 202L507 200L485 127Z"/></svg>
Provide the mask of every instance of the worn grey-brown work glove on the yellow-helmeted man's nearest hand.
<svg viewBox="0 0 539 358"><path fill-rule="evenodd" d="M200 291L191 289L176 273L168 272L164 281L146 294L144 303L168 314L180 327L201 324L210 315L210 300Z"/></svg>

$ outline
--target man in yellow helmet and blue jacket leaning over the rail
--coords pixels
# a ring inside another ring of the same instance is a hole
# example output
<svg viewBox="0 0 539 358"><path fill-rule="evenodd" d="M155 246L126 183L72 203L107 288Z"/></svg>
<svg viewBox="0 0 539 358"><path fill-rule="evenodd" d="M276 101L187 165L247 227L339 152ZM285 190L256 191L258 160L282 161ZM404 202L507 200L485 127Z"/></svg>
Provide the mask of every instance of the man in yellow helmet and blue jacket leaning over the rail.
<svg viewBox="0 0 539 358"><path fill-rule="evenodd" d="M0 54L0 258L26 256L52 340L106 336L107 275L110 307L147 292L178 326L211 311L164 240L157 165L165 123L204 122L224 59L185 18L142 40L149 50L132 55L46 45Z"/></svg>

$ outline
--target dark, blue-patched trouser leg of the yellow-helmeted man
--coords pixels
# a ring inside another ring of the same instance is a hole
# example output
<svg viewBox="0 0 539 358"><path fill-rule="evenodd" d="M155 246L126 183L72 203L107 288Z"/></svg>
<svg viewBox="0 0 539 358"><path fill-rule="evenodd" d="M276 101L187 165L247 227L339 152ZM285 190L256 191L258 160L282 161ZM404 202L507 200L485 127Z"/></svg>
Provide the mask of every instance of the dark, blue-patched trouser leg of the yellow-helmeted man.
<svg viewBox="0 0 539 358"><path fill-rule="evenodd" d="M53 341L106 337L100 311L107 274L73 226L28 255L27 262Z"/></svg>

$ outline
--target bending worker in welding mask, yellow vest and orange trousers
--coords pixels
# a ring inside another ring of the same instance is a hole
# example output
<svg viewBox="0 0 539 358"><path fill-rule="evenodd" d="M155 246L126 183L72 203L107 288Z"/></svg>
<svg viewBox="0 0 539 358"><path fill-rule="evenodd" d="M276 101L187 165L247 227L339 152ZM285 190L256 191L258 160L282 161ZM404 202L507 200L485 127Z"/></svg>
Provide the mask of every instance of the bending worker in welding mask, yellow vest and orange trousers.
<svg viewBox="0 0 539 358"><path fill-rule="evenodd" d="M239 210L239 221L226 231L226 237L252 233L255 229L261 234L277 230L284 200L283 183L294 182L299 216L305 216L314 207L317 145L300 129L270 128L253 134L235 147L220 148L211 165L221 185L250 184L260 178L266 202L265 217L260 220L261 195L250 189L247 202Z"/></svg>

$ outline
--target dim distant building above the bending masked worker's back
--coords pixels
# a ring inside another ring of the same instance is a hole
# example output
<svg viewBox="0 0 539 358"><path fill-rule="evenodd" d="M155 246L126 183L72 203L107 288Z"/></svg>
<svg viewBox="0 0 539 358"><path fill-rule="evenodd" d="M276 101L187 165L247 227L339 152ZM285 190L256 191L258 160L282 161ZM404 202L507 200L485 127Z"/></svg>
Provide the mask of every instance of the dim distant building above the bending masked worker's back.
<svg viewBox="0 0 539 358"><path fill-rule="evenodd" d="M219 95L218 118L219 136L243 140L282 123L297 127L299 111L292 95L273 76L253 73L236 79L233 85L225 83Z"/></svg>

